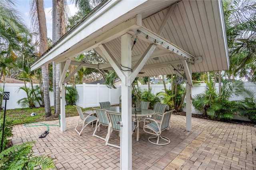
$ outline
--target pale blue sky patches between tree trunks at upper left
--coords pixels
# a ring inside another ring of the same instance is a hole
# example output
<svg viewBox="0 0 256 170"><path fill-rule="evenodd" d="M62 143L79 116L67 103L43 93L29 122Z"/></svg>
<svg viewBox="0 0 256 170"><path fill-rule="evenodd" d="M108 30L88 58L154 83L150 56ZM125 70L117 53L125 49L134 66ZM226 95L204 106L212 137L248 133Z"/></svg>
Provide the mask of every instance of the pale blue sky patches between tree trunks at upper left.
<svg viewBox="0 0 256 170"><path fill-rule="evenodd" d="M74 4L67 0L69 8L69 17L77 12ZM24 23L30 28L30 0L16 0L16 8L22 13ZM47 37L52 39L52 0L44 0L44 11L46 15Z"/></svg>

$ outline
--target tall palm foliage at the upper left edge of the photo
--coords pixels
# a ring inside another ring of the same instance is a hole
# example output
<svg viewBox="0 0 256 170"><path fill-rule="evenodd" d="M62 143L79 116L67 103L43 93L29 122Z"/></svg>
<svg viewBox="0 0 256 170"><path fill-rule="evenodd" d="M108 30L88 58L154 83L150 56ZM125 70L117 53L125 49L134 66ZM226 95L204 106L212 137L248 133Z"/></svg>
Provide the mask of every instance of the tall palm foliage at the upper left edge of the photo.
<svg viewBox="0 0 256 170"><path fill-rule="evenodd" d="M20 49L19 43L21 34L28 32L20 13L12 8L14 2L11 0L0 0L0 79L7 70L15 66L17 55L14 51ZM4 93L4 87L2 90ZM1 95L0 106L2 105L3 95Z"/></svg>

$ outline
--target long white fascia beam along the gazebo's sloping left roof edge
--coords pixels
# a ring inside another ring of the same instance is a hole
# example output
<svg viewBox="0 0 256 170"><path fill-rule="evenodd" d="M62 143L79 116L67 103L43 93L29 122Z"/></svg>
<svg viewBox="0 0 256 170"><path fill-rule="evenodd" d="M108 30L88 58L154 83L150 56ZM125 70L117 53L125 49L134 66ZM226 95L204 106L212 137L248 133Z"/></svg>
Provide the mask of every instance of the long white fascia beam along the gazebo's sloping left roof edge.
<svg viewBox="0 0 256 170"><path fill-rule="evenodd" d="M35 63L33 63L31 66L31 70L35 70L39 67L42 67L45 64L52 63L52 61L56 61L57 58L63 56L63 55L60 55L61 53L65 52L68 49L71 49L70 47L78 43L81 43L81 42L84 43L84 39L93 40L97 36L105 33L107 30L112 29L112 27L116 26L115 24L113 24L114 20L116 19L118 20L120 16L123 16L124 14L129 13L130 10L136 8L140 4L143 4L145 1L146 0L140 0L140 1L134 1L130 3L130 1L109 0L109 1L102 2L100 6L97 6L99 8L94 8L94 10L90 12L90 14L86 15L86 17L83 18L82 22L77 24L74 27L74 29L70 30L67 34L65 34L60 39L60 41L58 41L58 43L54 44L51 50L47 51L45 54L42 55L42 57L40 57L40 59L38 59ZM125 29L130 30L129 27L126 27ZM116 32L116 33L119 33L119 32ZM120 34L117 37L123 34ZM70 57L74 57L74 56L75 55L73 56L70 55ZM68 55L65 57L68 57ZM59 62L62 62L62 61L58 60L58 63Z"/></svg>

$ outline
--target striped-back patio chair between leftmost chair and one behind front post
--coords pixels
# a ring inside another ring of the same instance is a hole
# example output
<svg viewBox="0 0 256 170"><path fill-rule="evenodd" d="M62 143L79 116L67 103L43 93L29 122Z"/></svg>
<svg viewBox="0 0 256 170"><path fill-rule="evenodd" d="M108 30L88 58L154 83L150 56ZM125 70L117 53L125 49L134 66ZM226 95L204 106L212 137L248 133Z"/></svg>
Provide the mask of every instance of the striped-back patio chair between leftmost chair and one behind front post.
<svg viewBox="0 0 256 170"><path fill-rule="evenodd" d="M98 117L98 120L96 122L96 127L95 127L95 130L94 130L92 136L96 136L97 138L100 138L100 139L103 139L103 140L106 141L107 137L103 138L101 136L98 136L98 135L95 134L95 132L96 132L97 129L98 129L98 132L100 132L100 125L102 125L104 127L108 127L109 119L108 119L107 113L104 109L98 109L98 108L93 108L93 109L95 109L95 111L96 111L96 115Z"/></svg>

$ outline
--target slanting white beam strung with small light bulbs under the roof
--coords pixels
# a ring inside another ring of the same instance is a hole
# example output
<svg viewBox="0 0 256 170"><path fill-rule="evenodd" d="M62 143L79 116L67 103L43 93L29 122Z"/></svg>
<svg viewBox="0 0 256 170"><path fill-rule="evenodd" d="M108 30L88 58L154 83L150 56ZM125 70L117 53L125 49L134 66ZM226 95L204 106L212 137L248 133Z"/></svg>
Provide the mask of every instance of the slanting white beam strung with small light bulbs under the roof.
<svg viewBox="0 0 256 170"><path fill-rule="evenodd" d="M185 59L189 63L194 63L195 57L193 55L144 27L137 29L134 34L137 34L140 40L154 43L160 49L172 51L172 53L176 53L181 59Z"/></svg>

